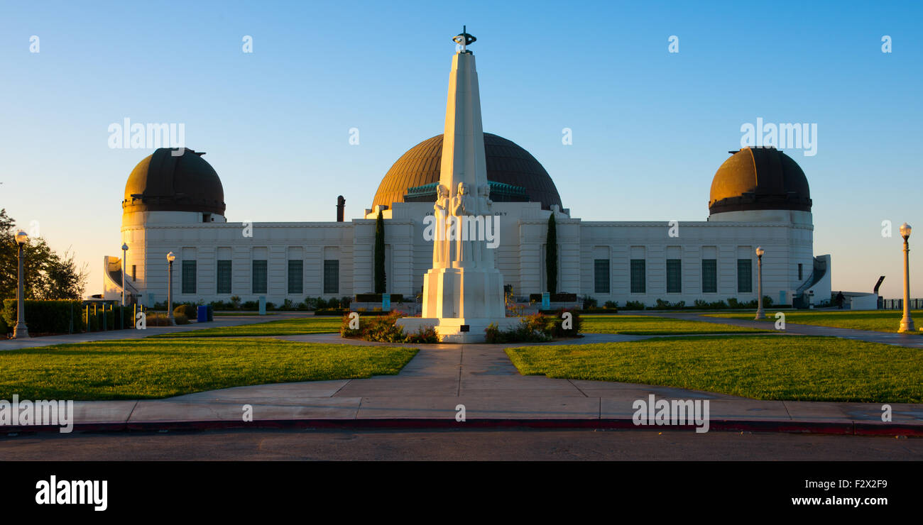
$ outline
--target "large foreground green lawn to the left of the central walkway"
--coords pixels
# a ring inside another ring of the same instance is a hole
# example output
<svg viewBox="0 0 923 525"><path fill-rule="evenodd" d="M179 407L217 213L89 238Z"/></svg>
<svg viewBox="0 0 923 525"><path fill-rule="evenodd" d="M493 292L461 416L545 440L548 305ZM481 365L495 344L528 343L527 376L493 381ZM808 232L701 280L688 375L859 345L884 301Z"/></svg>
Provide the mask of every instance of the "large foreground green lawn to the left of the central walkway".
<svg viewBox="0 0 923 525"><path fill-rule="evenodd" d="M286 340L111 340L0 352L0 400L136 400L395 375L416 349Z"/></svg>

